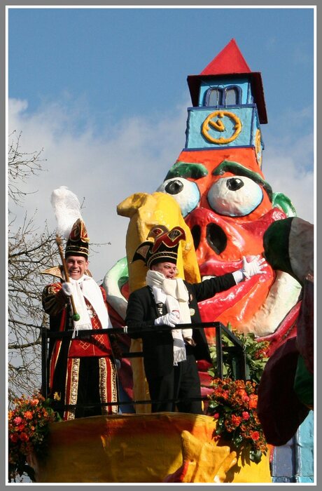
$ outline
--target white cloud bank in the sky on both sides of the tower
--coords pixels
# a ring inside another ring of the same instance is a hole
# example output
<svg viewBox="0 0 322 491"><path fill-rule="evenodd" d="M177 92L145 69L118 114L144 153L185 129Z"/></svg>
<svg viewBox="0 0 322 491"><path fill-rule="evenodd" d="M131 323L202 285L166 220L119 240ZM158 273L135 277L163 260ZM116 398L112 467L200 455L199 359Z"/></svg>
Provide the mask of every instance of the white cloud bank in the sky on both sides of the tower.
<svg viewBox="0 0 322 491"><path fill-rule="evenodd" d="M26 101L10 100L9 133L22 131L23 152L43 148L47 169L28 181L28 188L38 192L27 197L20 215L37 209L39 224L47 219L54 230L52 190L65 185L80 201L85 198L82 213L92 243L111 242L92 251L90 269L99 281L125 255L128 219L117 215L116 206L134 192L155 191L162 182L184 147L188 105L184 101L158 118L151 111L150 117L106 123L97 133L82 102L56 102L29 114ZM80 118L85 121L81 129ZM312 222L314 176L311 166L303 166L310 148L310 137L274 144L264 152L263 172L273 190L289 196L297 214Z"/></svg>

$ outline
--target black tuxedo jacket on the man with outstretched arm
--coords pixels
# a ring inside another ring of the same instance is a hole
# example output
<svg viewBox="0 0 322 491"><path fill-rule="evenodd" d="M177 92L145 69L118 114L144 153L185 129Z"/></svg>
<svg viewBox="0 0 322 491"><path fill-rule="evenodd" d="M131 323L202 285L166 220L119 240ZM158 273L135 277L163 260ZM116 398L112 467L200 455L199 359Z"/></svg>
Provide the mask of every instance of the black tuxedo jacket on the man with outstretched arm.
<svg viewBox="0 0 322 491"><path fill-rule="evenodd" d="M216 293L236 285L231 273L210 278L201 283L187 283L186 281L184 283L189 292L191 323L201 322L197 302L214 297ZM167 314L167 308L162 305L162 311L159 311L152 290L148 286L131 293L127 304L125 325L127 325L127 333L130 337L142 339L144 369L148 378L162 377L173 368L174 354L171 332L160 331L158 327L155 327L153 332L147 332L148 328L154 326L155 319L164 314ZM196 343L193 348L196 360L211 361L204 330L193 329L193 339Z"/></svg>

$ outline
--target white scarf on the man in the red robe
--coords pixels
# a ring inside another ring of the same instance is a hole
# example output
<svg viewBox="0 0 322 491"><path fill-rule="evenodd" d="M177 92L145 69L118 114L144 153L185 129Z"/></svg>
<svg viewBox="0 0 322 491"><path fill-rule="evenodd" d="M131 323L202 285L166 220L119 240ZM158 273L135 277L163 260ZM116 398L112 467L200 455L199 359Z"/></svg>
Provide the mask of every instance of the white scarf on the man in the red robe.
<svg viewBox="0 0 322 491"><path fill-rule="evenodd" d="M78 280L69 278L69 281L73 288L73 302L77 314L80 316L79 321L73 321L74 331L77 332L78 330L92 329L92 322L84 297L90 302L92 309L96 312L102 325L102 329L112 328L113 325L102 297L102 291L96 281L86 275L83 275Z"/></svg>

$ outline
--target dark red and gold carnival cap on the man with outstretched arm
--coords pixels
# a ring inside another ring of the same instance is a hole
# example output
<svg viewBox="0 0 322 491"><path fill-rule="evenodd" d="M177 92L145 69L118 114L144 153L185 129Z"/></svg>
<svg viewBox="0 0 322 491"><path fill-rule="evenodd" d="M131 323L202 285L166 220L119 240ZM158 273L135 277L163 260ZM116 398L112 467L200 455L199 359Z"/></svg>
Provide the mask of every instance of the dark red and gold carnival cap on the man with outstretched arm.
<svg viewBox="0 0 322 491"><path fill-rule="evenodd" d="M141 243L134 253L132 262L142 260L148 268L158 262L176 264L179 242L186 238L185 231L181 227L169 230L164 225L157 225L148 233L147 238L150 237L154 238L154 242Z"/></svg>

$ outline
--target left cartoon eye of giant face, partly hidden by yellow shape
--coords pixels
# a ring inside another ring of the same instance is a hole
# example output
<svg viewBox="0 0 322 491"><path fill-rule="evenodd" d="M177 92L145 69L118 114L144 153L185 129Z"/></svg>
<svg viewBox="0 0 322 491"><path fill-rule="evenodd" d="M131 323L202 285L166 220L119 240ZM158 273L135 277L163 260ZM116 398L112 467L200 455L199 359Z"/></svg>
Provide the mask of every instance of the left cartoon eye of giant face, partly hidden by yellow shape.
<svg viewBox="0 0 322 491"><path fill-rule="evenodd" d="M186 217L200 201L200 191L197 184L184 177L173 177L162 182L157 191L171 194L179 204L183 217Z"/></svg>

